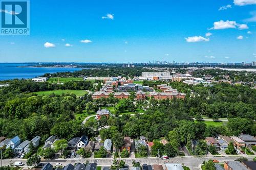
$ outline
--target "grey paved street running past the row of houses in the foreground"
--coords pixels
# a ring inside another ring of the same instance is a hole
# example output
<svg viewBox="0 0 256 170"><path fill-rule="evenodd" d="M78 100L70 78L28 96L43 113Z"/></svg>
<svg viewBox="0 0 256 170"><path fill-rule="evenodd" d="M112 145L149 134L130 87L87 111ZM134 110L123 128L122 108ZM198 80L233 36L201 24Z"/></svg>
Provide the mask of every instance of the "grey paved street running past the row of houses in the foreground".
<svg viewBox="0 0 256 170"><path fill-rule="evenodd" d="M132 166L133 161L138 161L141 164L143 163L150 163L150 164L164 164L164 163L181 163L184 164L184 166L188 166L190 169L195 169L198 170L199 166L203 163L204 160L209 160L209 159L216 159L219 160L220 162L224 161L231 161L239 158L241 156L230 156L230 157L215 157L215 156L207 156L207 157L175 157L175 158L170 158L168 160L161 160L156 157L151 157L151 158L121 158L122 160L125 161L126 164ZM254 156L244 156L248 160L252 160ZM119 158L118 158L119 159ZM3 165L9 165L10 163L13 163L15 161L22 161L23 163L26 163L25 159L6 159L3 160ZM67 165L68 163L86 163L87 161L91 163L97 163L100 166L110 166L113 162L112 158L104 158L104 159L55 159L55 160L41 160L41 162L49 162L52 165L55 165L57 162L61 163L63 166ZM27 165L25 165L27 167Z"/></svg>

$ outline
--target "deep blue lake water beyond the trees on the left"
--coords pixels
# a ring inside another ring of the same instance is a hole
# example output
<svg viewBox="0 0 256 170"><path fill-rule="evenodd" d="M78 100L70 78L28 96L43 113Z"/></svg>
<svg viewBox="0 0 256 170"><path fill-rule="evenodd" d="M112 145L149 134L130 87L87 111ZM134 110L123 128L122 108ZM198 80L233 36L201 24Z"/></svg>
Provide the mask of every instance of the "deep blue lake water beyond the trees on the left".
<svg viewBox="0 0 256 170"><path fill-rule="evenodd" d="M42 76L45 73L76 71L82 68L72 67L33 67L28 63L0 63L0 80L30 79Z"/></svg>

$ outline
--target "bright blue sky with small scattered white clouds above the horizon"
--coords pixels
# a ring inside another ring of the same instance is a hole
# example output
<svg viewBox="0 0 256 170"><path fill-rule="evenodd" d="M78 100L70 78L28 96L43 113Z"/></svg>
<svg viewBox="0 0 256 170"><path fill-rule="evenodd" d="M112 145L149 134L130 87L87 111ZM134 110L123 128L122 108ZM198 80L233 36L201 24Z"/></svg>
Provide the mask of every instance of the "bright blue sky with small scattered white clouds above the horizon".
<svg viewBox="0 0 256 170"><path fill-rule="evenodd" d="M255 4L31 0L30 35L0 36L0 62L251 62Z"/></svg>

